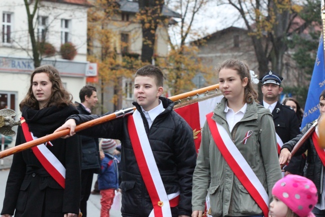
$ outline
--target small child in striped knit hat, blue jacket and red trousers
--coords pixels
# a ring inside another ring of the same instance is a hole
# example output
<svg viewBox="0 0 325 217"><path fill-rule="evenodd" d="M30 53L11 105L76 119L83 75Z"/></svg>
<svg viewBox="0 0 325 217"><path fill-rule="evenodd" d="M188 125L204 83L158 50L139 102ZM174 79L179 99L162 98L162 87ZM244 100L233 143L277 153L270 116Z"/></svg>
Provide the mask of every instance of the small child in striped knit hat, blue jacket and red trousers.
<svg viewBox="0 0 325 217"><path fill-rule="evenodd" d="M98 174L98 189L100 191L100 217L109 217L109 210L118 190L118 160L114 157L116 142L113 139L102 139L101 149L104 158L100 162L100 173Z"/></svg>

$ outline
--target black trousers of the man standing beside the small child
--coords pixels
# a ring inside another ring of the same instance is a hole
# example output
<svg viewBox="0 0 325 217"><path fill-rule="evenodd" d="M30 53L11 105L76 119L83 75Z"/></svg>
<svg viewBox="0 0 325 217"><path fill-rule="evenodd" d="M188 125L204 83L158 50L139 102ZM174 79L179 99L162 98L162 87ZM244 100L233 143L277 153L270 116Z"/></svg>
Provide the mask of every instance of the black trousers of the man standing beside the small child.
<svg viewBox="0 0 325 217"><path fill-rule="evenodd" d="M93 169L81 170L80 211L82 212L82 217L87 217L87 200L91 191L92 177Z"/></svg>

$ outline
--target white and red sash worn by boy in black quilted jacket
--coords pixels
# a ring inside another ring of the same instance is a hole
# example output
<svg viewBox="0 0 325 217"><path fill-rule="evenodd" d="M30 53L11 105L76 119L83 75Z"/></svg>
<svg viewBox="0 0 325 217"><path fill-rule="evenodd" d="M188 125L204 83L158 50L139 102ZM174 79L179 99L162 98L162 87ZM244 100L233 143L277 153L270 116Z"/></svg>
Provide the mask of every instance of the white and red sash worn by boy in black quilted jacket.
<svg viewBox="0 0 325 217"><path fill-rule="evenodd" d="M179 191L166 194L140 113L135 110L133 115L127 118L127 128L135 159L153 205L149 216L169 217L170 207L178 205Z"/></svg>

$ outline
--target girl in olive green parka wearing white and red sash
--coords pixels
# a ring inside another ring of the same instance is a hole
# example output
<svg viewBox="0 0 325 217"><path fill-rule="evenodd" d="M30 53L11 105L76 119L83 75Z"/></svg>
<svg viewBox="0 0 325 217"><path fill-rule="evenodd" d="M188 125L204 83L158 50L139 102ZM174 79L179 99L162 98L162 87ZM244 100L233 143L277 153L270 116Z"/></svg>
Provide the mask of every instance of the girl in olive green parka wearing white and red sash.
<svg viewBox="0 0 325 217"><path fill-rule="evenodd" d="M212 216L262 217L268 213L271 189L281 178L272 116L257 103L252 83L258 80L245 63L226 60L217 74L224 97L206 115L202 129L192 217L202 216L206 194Z"/></svg>

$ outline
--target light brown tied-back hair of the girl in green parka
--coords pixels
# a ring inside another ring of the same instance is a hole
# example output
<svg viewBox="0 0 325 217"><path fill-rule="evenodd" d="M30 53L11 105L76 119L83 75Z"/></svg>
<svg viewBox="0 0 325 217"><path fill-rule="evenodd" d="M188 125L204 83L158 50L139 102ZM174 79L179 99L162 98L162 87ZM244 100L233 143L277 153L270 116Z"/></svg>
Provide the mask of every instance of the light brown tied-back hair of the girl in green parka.
<svg viewBox="0 0 325 217"><path fill-rule="evenodd" d="M223 61L221 64L218 64L216 67L216 73L219 74L221 69L232 69L237 71L237 74L240 77L241 82L246 77L248 79L247 85L244 88L244 102L245 103L252 103L252 100L258 103L258 93L252 86L250 82L250 73L247 64L243 61L235 60L235 59L228 59Z"/></svg>

